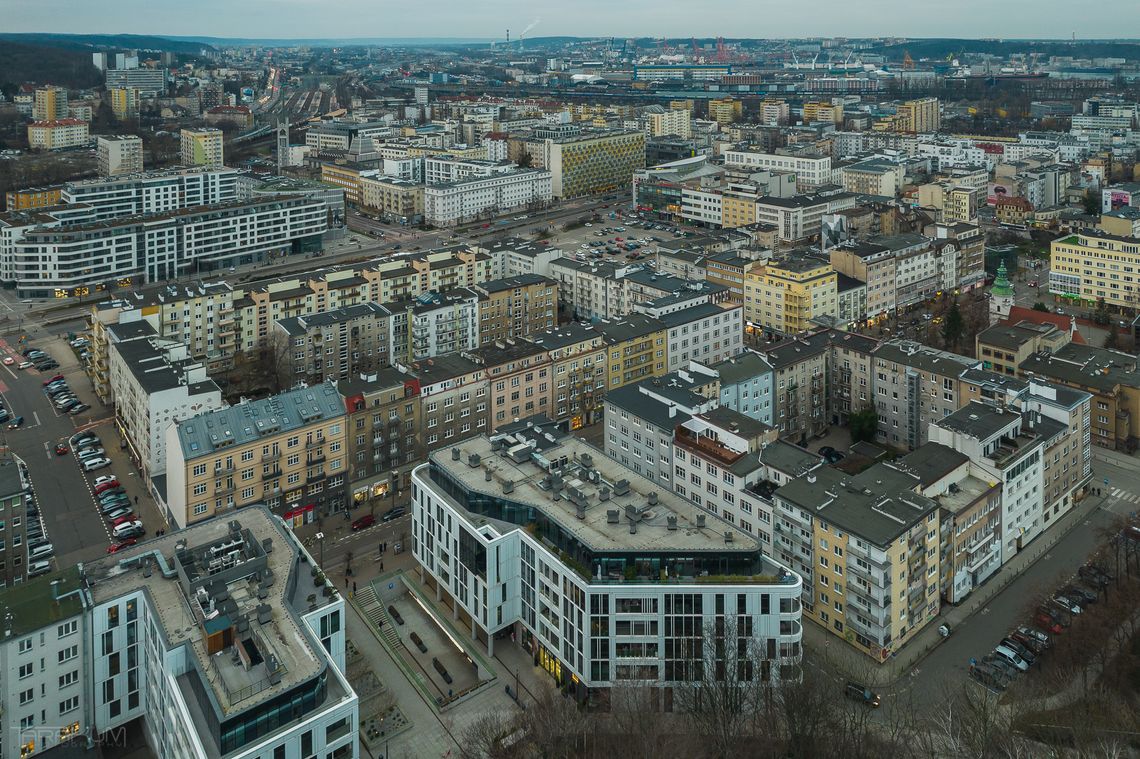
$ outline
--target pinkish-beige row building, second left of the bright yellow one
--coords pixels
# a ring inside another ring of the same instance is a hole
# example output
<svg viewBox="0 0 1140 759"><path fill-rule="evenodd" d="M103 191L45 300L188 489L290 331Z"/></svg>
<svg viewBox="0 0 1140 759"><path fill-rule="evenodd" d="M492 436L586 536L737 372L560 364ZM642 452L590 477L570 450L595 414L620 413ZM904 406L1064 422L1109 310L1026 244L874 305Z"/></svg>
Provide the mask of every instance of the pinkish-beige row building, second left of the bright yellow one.
<svg viewBox="0 0 1140 759"><path fill-rule="evenodd" d="M483 368L491 432L522 417L549 415L554 383L545 348L529 340L507 338L465 351L463 357Z"/></svg>

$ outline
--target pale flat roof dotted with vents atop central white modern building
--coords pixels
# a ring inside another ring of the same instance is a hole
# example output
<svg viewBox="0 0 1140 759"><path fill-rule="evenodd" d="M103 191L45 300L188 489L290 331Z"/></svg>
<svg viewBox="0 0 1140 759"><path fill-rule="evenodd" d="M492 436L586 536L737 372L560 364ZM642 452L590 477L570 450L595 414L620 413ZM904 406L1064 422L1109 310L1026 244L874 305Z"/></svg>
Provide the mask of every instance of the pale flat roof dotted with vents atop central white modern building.
<svg viewBox="0 0 1140 759"><path fill-rule="evenodd" d="M595 553L755 553L759 549L755 536L722 522L667 487L621 466L578 438L563 438L559 444L542 452L547 460L565 457L568 463L568 471L563 475L567 496L554 500L552 491L540 487L543 479L547 476L546 471L529 452L522 462L516 462L507 454L510 449L522 444L518 438L496 435L496 439L505 441L499 443L502 447L498 449L492 447L491 439L480 435L459 443L459 460L453 460L450 451L443 449L431 454L431 463L467 490L495 498L504 497L504 484L510 482L510 493L506 497L542 512ZM479 457L474 465L471 464L472 456ZM587 458L584 459L583 456ZM585 463L589 465L586 466ZM486 479L486 470L491 472L490 481ZM587 470L597 471L598 482L589 480ZM624 489L619 487L621 483L628 487L628 492L619 496L617 492ZM569 497L571 487L584 495L587 504L581 519ZM609 490L608 500L600 499L603 489ZM656 504L650 503L651 493ZM630 532L626 517L627 506L635 511L648 506L637 520L636 532ZM610 521L611 511L616 513L617 522ZM669 517L676 519L674 530L668 528ZM698 527L699 519L705 527ZM732 536L731 542L725 541L726 533Z"/></svg>

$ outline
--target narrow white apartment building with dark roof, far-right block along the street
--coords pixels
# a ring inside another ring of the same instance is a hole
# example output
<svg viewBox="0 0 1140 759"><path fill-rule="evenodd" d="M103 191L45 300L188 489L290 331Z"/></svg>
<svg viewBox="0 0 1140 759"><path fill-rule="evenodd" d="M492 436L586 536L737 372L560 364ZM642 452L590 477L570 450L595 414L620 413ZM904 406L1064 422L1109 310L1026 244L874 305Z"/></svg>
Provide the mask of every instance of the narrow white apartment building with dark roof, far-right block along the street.
<svg viewBox="0 0 1140 759"><path fill-rule="evenodd" d="M1044 439L1031 416L1001 406L970 401L930 425L931 442L968 456L991 481L1001 483L1001 561L1004 564L1045 529L1042 493ZM1024 426L1023 426L1024 425ZM1052 425L1049 425L1052 427ZM1047 430L1051 435L1056 429Z"/></svg>

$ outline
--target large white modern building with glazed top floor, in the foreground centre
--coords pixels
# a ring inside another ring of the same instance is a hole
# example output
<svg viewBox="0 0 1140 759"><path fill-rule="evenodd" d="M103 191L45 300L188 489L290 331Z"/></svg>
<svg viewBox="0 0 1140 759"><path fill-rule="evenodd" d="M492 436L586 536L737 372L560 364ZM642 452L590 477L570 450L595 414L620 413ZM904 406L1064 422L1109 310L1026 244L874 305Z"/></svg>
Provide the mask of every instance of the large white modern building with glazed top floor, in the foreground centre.
<svg viewBox="0 0 1140 759"><path fill-rule="evenodd" d="M554 462L557 475L549 473ZM454 598L488 653L510 630L579 702L626 679L669 687L691 678L686 656L712 623L718 594L733 598L739 644L764 642L752 676L792 676L799 578L758 550L754 537L710 522L553 424L520 423L440 451L413 480L413 546L425 581ZM555 488L564 497L552 500ZM544 539L522 529L536 521ZM467 548L445 550L453 545ZM466 579L456 585L456 577ZM634 656L640 661L628 661Z"/></svg>

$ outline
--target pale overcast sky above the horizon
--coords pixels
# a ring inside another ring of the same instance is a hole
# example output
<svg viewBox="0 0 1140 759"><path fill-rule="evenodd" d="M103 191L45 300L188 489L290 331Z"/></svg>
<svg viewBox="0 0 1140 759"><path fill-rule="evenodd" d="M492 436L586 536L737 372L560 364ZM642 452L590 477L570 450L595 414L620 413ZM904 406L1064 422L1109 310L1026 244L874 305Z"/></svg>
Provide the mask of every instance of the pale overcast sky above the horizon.
<svg viewBox="0 0 1140 759"><path fill-rule="evenodd" d="M1127 0L1130 5L1135 0ZM3 31L219 38L1140 38L1074 0L3 0Z"/></svg>

